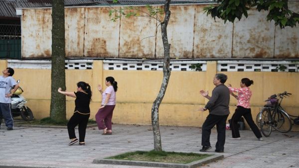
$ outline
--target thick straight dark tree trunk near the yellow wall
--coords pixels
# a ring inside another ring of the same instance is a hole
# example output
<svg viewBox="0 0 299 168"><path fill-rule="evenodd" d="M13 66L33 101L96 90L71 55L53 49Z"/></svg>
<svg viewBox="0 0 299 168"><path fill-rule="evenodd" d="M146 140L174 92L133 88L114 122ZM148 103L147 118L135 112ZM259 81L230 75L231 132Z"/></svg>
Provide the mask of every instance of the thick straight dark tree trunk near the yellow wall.
<svg viewBox="0 0 299 168"><path fill-rule="evenodd" d="M66 120L65 95L65 36L64 0L52 0L52 68L51 68L51 106L50 118L59 122Z"/></svg>

